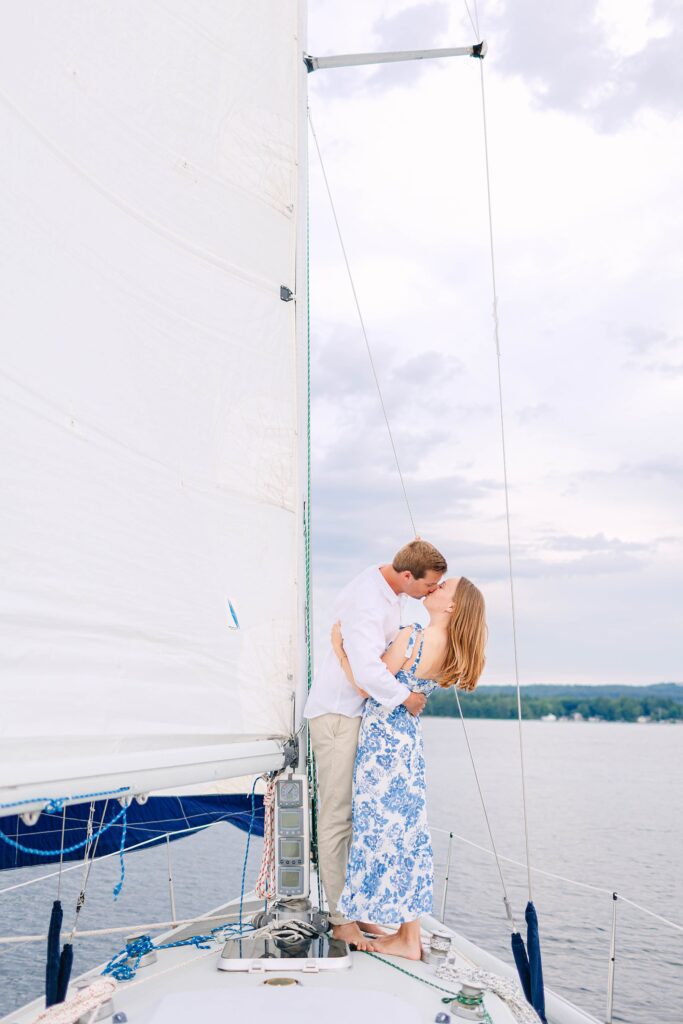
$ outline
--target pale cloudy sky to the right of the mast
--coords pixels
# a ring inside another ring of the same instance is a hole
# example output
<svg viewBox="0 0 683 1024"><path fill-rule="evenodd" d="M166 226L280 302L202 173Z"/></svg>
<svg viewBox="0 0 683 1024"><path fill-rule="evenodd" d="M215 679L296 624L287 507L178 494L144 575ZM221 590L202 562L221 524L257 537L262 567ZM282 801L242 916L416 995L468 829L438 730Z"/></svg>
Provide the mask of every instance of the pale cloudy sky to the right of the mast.
<svg viewBox="0 0 683 1024"><path fill-rule="evenodd" d="M683 6L479 2L523 683L683 680ZM315 55L475 41L464 3L311 0ZM513 680L479 66L318 71L310 110L419 532ZM411 536L311 142L313 542ZM318 648L319 648L318 644Z"/></svg>

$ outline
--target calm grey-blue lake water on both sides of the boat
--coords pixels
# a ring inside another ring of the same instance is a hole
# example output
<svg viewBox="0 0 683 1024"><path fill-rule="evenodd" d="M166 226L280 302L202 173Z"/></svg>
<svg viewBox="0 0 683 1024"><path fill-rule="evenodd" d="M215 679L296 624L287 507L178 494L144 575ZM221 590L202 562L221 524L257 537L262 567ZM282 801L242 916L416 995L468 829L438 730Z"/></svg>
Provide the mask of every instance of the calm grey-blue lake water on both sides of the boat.
<svg viewBox="0 0 683 1024"><path fill-rule="evenodd" d="M468 732L499 853L524 860L515 723L470 720ZM447 836L453 830L489 847L461 723L425 719L429 814L440 907ZM612 913L611 892L683 924L683 727L525 722L523 728L531 863L597 887L579 888L533 876L547 984L604 1019ZM191 916L239 892L246 837L227 825L172 845L177 912ZM248 883L255 880L261 841L252 840ZM504 862L513 910L523 924L526 870ZM4 872L0 888L44 873ZM81 871L63 876L65 926L73 916ZM80 929L170 918L165 848L126 858L126 884L116 904L115 858L95 863ZM56 880L0 899L0 934L47 929ZM453 842L446 922L473 942L510 961L501 882L488 854ZM116 936L83 939L75 973L109 959ZM0 946L0 1014L39 994L44 944ZM163 954L161 954L163 955ZM683 1024L683 933L617 903L614 1021Z"/></svg>

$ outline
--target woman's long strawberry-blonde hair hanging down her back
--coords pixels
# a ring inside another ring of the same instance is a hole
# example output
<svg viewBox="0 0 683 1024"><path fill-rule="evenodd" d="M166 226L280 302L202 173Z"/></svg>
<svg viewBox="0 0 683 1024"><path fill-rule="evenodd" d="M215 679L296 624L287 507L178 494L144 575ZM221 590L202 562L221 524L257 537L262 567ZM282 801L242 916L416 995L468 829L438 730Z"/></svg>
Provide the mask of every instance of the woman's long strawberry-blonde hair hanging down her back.
<svg viewBox="0 0 683 1024"><path fill-rule="evenodd" d="M486 608L481 592L465 577L458 581L454 603L438 684L473 690L486 663Z"/></svg>

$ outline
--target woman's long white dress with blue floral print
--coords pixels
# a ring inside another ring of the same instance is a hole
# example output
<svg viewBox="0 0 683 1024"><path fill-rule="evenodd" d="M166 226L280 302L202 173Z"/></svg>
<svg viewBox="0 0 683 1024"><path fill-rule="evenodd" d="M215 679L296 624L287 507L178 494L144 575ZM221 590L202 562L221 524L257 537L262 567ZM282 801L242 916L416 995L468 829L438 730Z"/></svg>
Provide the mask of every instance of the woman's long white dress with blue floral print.
<svg viewBox="0 0 683 1024"><path fill-rule="evenodd" d="M415 625L405 649L415 662L396 679L426 696L438 685L415 676L424 635ZM349 921L392 925L432 909L434 866L427 828L420 718L369 697L353 769L353 837L339 908Z"/></svg>

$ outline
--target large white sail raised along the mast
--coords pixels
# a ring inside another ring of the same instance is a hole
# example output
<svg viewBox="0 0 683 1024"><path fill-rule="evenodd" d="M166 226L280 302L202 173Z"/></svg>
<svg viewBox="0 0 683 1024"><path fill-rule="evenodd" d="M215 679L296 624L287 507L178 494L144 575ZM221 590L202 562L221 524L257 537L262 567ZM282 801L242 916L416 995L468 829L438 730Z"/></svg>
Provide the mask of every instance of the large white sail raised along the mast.
<svg viewBox="0 0 683 1024"><path fill-rule="evenodd" d="M6 12L0 801L291 732L297 6Z"/></svg>

